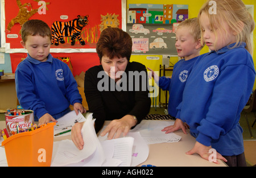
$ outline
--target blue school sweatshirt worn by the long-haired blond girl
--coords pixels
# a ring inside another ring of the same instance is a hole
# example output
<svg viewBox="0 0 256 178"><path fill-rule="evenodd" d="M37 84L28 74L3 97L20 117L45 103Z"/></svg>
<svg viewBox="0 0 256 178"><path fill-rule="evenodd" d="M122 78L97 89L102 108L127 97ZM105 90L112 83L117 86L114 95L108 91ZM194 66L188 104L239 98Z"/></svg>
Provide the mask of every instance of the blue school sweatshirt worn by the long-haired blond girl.
<svg viewBox="0 0 256 178"><path fill-rule="evenodd" d="M197 142L225 156L244 151L239 120L255 79L245 45L231 49L231 44L197 60L177 107L177 118L188 123Z"/></svg>

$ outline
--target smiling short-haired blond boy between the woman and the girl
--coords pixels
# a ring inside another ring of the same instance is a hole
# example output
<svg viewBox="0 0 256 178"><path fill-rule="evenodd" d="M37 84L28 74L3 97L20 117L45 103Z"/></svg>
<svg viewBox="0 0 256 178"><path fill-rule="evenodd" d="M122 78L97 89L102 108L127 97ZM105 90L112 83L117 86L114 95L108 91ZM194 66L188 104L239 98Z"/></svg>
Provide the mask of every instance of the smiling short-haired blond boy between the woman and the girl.
<svg viewBox="0 0 256 178"><path fill-rule="evenodd" d="M200 26L197 18L187 19L181 22L176 30L175 47L177 55L183 59L177 61L174 65L172 76L159 78L154 71L148 68L152 71L152 77L154 77L156 84L158 84L162 90L169 90L168 114L172 117L176 118L176 107L182 101L182 94L187 78L203 48L200 38ZM162 131L170 133L168 131L170 127L171 126L165 127Z"/></svg>

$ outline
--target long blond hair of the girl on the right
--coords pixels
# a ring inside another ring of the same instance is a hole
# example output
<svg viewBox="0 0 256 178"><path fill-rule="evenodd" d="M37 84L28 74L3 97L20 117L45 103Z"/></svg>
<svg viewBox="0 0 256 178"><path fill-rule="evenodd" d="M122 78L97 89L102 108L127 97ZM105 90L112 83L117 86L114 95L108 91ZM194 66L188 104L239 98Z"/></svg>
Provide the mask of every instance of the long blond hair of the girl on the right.
<svg viewBox="0 0 256 178"><path fill-rule="evenodd" d="M255 23L253 17L247 11L245 4L241 0L215 0L216 13L214 14L210 13L212 6L209 5L209 1L201 7L198 19L200 19L203 12L208 15L210 27L216 35L216 41L218 40L217 28L224 27L224 23L228 24L230 30L236 34L236 44L232 48L237 47L241 42L245 42L245 48L252 55L253 42L251 41L250 34L254 30ZM227 33L226 29L221 29L221 31ZM204 43L203 33L201 35L201 43Z"/></svg>

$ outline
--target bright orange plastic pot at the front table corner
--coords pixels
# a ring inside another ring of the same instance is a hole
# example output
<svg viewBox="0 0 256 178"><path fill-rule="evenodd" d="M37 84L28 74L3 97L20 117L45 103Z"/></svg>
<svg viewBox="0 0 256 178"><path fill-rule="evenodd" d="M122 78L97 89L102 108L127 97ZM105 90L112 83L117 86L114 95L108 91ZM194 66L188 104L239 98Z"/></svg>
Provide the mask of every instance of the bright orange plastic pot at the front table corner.
<svg viewBox="0 0 256 178"><path fill-rule="evenodd" d="M15 134L2 142L9 166L50 166L53 148L53 127L48 123L33 131Z"/></svg>

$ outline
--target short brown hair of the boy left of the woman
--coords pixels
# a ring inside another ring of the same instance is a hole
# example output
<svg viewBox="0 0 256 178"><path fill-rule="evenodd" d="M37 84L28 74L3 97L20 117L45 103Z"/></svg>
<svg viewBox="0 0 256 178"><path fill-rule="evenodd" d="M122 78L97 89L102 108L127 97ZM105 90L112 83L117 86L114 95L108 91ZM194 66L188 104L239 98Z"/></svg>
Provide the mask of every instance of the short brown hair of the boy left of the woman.
<svg viewBox="0 0 256 178"><path fill-rule="evenodd" d="M52 32L51 28L49 28L46 22L38 19L32 19L27 20L27 22L23 24L21 29L21 35L22 40L25 43L28 35L40 35L42 37L49 36L49 38L51 39Z"/></svg>

